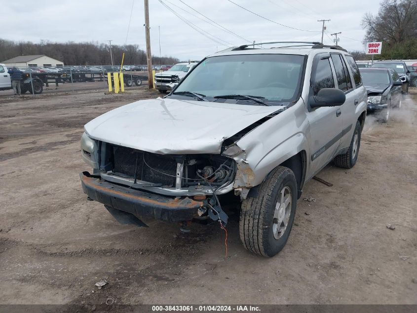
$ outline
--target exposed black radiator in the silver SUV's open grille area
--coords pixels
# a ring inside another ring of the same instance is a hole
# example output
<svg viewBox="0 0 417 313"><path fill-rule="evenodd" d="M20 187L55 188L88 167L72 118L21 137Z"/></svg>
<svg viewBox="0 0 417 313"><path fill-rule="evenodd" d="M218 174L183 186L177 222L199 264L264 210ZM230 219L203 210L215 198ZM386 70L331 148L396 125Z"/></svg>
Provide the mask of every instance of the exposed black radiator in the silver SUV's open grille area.
<svg viewBox="0 0 417 313"><path fill-rule="evenodd" d="M177 162L171 156L159 155L132 148L113 146L114 173L122 176L160 183L164 187L175 185Z"/></svg>

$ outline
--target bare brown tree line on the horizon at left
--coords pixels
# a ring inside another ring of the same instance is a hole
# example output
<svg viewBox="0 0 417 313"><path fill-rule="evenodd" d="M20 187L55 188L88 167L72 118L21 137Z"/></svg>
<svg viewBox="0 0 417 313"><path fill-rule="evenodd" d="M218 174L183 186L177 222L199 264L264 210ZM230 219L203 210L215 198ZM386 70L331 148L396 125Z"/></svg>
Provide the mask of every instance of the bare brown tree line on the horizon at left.
<svg viewBox="0 0 417 313"><path fill-rule="evenodd" d="M147 64L146 52L139 45L112 45L114 65L120 65L124 52L123 64ZM110 46L91 43L51 43L49 41L14 42L0 39L0 62L19 55L45 54L63 61L65 65L108 65L112 64ZM173 56L152 55L152 64L175 64L180 60Z"/></svg>

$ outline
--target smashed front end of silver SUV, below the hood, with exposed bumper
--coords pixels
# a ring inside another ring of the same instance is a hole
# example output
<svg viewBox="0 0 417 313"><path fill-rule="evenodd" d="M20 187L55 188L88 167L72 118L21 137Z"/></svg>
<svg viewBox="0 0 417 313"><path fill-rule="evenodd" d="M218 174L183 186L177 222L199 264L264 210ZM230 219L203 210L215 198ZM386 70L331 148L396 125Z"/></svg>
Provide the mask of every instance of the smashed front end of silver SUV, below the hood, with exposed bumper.
<svg viewBox="0 0 417 313"><path fill-rule="evenodd" d="M137 217L169 222L211 218L227 224L218 197L233 189L235 160L220 154L157 154L82 135L87 195ZM112 213L113 214L113 213Z"/></svg>

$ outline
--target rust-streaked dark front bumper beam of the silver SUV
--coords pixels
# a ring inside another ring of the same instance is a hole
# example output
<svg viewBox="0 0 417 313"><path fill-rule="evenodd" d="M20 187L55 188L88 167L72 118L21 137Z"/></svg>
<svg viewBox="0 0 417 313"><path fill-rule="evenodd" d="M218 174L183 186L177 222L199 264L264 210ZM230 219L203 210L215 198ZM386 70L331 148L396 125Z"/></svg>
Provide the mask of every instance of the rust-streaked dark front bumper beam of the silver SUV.
<svg viewBox="0 0 417 313"><path fill-rule="evenodd" d="M137 217L166 222L190 221L198 217L201 201L177 199L110 183L88 172L80 173L82 190L93 200Z"/></svg>

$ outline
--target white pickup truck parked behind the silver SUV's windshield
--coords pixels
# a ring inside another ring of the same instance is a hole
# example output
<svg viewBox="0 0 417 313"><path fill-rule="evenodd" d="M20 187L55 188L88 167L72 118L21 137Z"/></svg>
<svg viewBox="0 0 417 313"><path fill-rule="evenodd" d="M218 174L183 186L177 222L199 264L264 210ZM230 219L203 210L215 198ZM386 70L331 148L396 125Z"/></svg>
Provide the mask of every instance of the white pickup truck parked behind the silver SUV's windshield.
<svg viewBox="0 0 417 313"><path fill-rule="evenodd" d="M175 88L197 62L178 63L168 71L155 74L155 88L159 92L166 92Z"/></svg>

